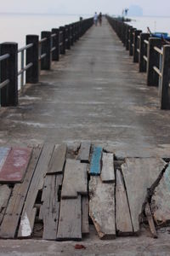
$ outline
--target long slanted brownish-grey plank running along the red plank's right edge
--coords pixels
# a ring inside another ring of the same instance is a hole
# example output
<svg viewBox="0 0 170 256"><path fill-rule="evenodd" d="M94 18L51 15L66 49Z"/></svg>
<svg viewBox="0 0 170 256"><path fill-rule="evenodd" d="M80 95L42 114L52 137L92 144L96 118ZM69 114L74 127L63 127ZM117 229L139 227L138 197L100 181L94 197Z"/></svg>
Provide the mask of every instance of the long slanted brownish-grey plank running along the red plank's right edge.
<svg viewBox="0 0 170 256"><path fill-rule="evenodd" d="M14 238L18 228L20 213L26 200L27 191L29 189L31 178L37 166L37 161L41 154L42 148L33 149L32 157L26 172L26 177L23 183L14 185L12 196L8 202L8 207L3 218L0 228L0 237Z"/></svg>

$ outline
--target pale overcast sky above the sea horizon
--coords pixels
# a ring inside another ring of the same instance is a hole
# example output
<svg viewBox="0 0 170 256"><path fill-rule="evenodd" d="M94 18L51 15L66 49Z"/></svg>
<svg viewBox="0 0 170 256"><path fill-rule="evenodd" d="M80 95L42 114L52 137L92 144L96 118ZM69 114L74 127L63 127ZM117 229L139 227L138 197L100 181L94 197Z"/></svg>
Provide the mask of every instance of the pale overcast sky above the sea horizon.
<svg viewBox="0 0 170 256"><path fill-rule="evenodd" d="M122 9L139 5L144 15L170 16L170 0L0 0L0 12L121 15Z"/></svg>

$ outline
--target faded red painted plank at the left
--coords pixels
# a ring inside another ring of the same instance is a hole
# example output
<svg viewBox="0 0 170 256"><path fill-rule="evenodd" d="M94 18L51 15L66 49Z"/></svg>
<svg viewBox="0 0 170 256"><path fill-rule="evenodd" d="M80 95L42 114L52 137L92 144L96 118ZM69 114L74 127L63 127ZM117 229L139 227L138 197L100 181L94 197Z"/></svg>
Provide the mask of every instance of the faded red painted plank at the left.
<svg viewBox="0 0 170 256"><path fill-rule="evenodd" d="M31 159L31 148L12 148L0 170L0 183L21 183Z"/></svg>

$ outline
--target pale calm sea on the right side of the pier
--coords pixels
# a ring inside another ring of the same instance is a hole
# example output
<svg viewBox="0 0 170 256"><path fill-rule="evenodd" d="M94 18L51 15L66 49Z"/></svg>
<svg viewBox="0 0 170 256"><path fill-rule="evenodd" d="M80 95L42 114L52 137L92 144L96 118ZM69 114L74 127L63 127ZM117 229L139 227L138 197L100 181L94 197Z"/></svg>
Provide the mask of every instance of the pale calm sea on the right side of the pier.
<svg viewBox="0 0 170 256"><path fill-rule="evenodd" d="M147 26L151 32L167 32L170 34L170 17L131 17L132 22L129 24L143 32L147 32Z"/></svg>

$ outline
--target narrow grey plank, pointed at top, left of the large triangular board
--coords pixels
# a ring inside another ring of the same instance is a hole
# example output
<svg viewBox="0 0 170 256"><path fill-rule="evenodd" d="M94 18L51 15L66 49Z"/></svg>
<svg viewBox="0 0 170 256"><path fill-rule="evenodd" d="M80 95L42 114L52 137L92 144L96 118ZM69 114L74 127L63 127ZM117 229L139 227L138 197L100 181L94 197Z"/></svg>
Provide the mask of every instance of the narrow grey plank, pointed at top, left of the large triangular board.
<svg viewBox="0 0 170 256"><path fill-rule="evenodd" d="M116 230L120 236L133 233L127 193L119 170L116 170Z"/></svg>

